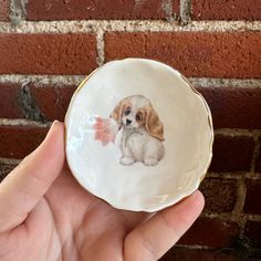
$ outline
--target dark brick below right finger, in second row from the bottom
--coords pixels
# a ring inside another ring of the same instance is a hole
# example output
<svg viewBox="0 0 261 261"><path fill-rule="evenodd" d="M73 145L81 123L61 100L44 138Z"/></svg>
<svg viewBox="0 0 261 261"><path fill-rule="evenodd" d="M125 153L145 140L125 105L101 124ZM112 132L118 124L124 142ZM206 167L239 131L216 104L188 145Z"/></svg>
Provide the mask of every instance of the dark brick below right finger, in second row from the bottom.
<svg viewBox="0 0 261 261"><path fill-rule="evenodd" d="M238 233L239 226L236 222L218 218L199 218L178 243L226 248Z"/></svg>

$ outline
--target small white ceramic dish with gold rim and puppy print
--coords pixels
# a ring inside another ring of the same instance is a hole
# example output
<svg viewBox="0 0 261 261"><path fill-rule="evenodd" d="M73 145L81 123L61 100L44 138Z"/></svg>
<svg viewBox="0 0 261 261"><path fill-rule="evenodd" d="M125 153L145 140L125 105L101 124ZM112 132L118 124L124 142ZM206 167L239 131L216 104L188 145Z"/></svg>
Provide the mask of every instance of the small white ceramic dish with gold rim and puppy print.
<svg viewBox="0 0 261 261"><path fill-rule="evenodd" d="M153 60L95 70L75 91L65 126L72 174L119 209L176 203L198 188L212 156L206 101L179 72Z"/></svg>

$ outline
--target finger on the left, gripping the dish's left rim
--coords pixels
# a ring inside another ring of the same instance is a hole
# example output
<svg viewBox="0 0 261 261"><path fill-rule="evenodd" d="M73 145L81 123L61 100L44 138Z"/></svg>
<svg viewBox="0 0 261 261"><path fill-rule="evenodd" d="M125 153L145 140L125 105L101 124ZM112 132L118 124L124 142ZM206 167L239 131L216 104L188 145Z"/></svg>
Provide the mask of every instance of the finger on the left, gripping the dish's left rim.
<svg viewBox="0 0 261 261"><path fill-rule="evenodd" d="M43 143L0 184L0 232L24 221L64 164L64 126L55 121Z"/></svg>

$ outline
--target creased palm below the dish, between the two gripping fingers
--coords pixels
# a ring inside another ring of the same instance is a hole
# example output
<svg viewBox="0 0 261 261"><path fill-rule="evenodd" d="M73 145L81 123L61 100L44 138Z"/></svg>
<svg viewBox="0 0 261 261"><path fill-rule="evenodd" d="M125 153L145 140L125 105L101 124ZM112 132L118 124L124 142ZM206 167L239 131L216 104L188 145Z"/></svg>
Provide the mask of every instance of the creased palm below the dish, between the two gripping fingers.
<svg viewBox="0 0 261 261"><path fill-rule="evenodd" d="M124 238L147 215L121 211L90 195L67 167L12 237L15 260L123 260Z"/></svg>

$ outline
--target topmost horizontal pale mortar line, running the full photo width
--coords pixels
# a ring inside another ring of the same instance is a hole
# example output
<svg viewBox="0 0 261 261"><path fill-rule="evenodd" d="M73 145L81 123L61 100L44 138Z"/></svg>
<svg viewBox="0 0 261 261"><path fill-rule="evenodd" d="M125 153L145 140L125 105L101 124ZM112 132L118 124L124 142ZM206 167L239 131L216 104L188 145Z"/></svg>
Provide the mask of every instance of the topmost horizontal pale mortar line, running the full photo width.
<svg viewBox="0 0 261 261"><path fill-rule="evenodd" d="M0 33L95 33L106 32L244 32L260 31L261 21L80 20L0 22Z"/></svg>

